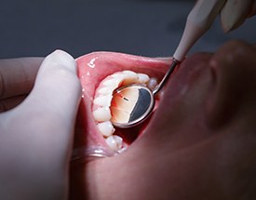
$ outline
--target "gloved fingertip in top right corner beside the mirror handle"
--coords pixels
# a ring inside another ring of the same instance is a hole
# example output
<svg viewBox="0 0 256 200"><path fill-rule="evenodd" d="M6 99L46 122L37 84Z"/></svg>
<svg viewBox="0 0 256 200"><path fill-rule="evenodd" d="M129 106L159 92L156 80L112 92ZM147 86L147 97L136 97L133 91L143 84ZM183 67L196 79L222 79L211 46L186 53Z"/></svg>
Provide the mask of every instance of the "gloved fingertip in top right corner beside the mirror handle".
<svg viewBox="0 0 256 200"><path fill-rule="evenodd" d="M238 28L247 19L251 6L252 0L227 0L221 11L224 33Z"/></svg>

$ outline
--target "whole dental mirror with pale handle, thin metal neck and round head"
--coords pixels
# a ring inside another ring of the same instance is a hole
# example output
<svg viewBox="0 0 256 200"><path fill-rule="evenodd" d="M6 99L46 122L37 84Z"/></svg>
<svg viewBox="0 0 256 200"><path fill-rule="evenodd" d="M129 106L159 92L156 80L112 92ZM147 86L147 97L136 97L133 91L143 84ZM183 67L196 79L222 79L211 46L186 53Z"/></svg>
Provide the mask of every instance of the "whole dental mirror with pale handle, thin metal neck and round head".
<svg viewBox="0 0 256 200"><path fill-rule="evenodd" d="M134 127L144 121L155 106L155 94L168 82L168 77L195 42L209 30L225 0L197 0L187 17L184 32L173 61L160 84L153 91L142 85L128 85L115 90L111 106L112 123L115 127Z"/></svg>

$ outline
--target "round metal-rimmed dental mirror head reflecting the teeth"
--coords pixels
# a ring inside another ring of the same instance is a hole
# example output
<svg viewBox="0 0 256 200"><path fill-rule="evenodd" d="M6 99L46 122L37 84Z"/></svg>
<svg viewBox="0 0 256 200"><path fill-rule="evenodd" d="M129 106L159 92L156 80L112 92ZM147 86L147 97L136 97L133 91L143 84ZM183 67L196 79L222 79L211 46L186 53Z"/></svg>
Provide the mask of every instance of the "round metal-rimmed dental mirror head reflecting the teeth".
<svg viewBox="0 0 256 200"><path fill-rule="evenodd" d="M152 91L141 85L129 85L115 90L111 102L111 121L115 127L133 127L153 110Z"/></svg>

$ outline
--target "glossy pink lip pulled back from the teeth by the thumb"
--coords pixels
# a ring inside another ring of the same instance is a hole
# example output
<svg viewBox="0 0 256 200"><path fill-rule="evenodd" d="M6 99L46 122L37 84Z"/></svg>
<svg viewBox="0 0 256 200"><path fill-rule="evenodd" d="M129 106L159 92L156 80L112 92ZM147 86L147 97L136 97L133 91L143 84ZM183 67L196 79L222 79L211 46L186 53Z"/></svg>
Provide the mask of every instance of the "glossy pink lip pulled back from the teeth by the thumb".
<svg viewBox="0 0 256 200"><path fill-rule="evenodd" d="M74 149L85 147L108 149L91 113L95 89L107 75L124 70L146 73L150 77L161 80L168 70L171 59L152 59L115 52L94 52L77 58L76 62L84 98L81 100L78 111ZM124 130L124 132L127 131Z"/></svg>

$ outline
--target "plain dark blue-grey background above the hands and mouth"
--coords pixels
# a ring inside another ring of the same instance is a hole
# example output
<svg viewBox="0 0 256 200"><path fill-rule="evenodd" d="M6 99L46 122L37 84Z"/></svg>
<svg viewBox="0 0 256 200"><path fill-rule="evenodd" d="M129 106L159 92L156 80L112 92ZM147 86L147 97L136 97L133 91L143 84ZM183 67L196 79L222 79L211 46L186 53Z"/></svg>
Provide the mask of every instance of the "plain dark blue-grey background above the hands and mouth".
<svg viewBox="0 0 256 200"><path fill-rule="evenodd" d="M74 58L91 51L171 56L195 1L2 0L0 59L46 56L56 48ZM256 42L256 18L223 34L220 19L191 50L213 51L231 38Z"/></svg>

